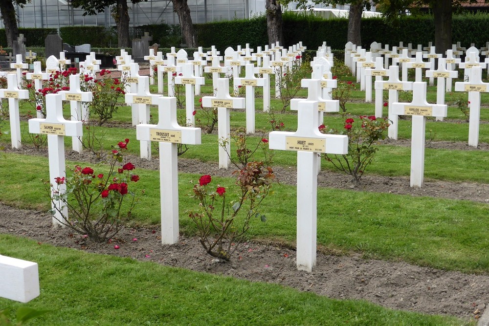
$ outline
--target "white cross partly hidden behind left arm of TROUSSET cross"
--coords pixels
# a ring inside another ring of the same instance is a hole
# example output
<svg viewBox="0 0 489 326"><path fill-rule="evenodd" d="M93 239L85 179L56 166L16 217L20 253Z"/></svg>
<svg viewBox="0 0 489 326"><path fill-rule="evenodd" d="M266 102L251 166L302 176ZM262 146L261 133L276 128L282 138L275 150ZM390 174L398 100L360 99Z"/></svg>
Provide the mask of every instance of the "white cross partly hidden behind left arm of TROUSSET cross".
<svg viewBox="0 0 489 326"><path fill-rule="evenodd" d="M136 104L138 112L138 124L148 124L150 120L150 104L159 104L158 99L161 94L150 93L150 83L148 76L139 76L137 82L137 93L126 93L125 100L127 104ZM140 155L141 158L151 161L151 142L141 140Z"/></svg>

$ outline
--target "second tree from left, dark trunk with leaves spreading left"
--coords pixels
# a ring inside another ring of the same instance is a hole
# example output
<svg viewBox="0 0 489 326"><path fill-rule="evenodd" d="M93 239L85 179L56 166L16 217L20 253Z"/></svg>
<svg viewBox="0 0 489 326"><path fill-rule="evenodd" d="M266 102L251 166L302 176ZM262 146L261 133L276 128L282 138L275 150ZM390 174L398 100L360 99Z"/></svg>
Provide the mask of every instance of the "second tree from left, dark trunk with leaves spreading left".
<svg viewBox="0 0 489 326"><path fill-rule="evenodd" d="M131 0L132 3L138 3L147 0ZM129 38L129 11L127 0L73 0L73 7L81 7L86 15L96 15L99 12L104 12L105 9L112 4L115 8L112 12L112 17L117 25L117 43L119 47L130 47L131 40Z"/></svg>

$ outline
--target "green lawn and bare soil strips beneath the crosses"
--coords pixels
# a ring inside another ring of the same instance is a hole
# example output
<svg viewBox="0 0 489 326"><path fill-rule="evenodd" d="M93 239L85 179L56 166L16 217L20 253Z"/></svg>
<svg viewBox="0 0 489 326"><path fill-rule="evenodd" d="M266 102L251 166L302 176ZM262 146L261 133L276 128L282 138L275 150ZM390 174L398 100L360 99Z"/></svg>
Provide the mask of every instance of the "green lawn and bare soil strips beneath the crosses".
<svg viewBox="0 0 489 326"><path fill-rule="evenodd" d="M206 82L201 96L212 94L211 80ZM436 91L433 87L428 91L428 102L435 103ZM156 93L154 87L152 92ZM40 181L48 176L47 151L37 151L30 142L25 117L29 108L22 107L21 150L10 149L8 120L0 125L0 142L5 147L0 152L1 254L39 263L41 296L29 306L51 312L33 325L90 325L95 320L101 325L214 325L223 321L226 325L470 325L474 316L480 316L474 312L483 311L483 304L489 303L489 113L487 107L481 110L479 148L467 146L466 117L453 105L458 96L457 92L446 95L450 106L445 121L428 119L421 189L409 187L409 118L400 120L400 140L380 145L359 186L322 161L317 232L321 254L312 273L296 271L295 266L295 152L274 152L273 167L280 184L274 184L274 194L262 206L267 221L254 221L251 241L232 261L215 262L194 238L195 226L185 212L196 205L188 195L200 175L210 174L226 188L234 183L233 167L218 169L217 134L203 134L202 145L189 146L178 158L181 238L177 245L161 246L158 160L138 158L130 110L121 108L97 132L103 134L105 150L124 138L131 140L125 159L137 166L137 186L146 192L133 211L132 224L112 243L98 244L50 227L51 218L45 213L49 202ZM298 97L307 97L307 90ZM364 92L356 90L353 97L347 109L354 119L374 113L373 104L362 103ZM487 104L488 99L483 94L481 102ZM272 118L262 113L261 105L258 95L256 130L265 134L251 135L249 141L255 144L271 130ZM280 100L272 99L272 107L273 119L284 123L283 130L296 130L295 112L281 114ZM157 110L151 114L158 121ZM196 117L199 114L198 109ZM341 129L344 118L326 113L324 123ZM231 128L244 125L244 111L232 110ZM66 137L65 143L68 149L71 140ZM153 156L157 156L156 147ZM257 152L256 159L262 158ZM96 161L89 152L67 150L69 166L93 166ZM120 249L115 250L114 244ZM304 292L365 299L430 315ZM0 299L0 306L13 310L20 305Z"/></svg>

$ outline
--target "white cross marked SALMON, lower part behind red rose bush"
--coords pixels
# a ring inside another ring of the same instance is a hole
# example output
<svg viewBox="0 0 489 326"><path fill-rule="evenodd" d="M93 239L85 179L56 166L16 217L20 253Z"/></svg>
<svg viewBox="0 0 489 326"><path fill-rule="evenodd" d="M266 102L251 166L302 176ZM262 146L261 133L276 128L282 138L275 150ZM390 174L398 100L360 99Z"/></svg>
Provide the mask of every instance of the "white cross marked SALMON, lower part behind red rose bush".
<svg viewBox="0 0 489 326"><path fill-rule="evenodd" d="M29 119L30 133L47 134L47 150L49 157L49 181L54 182L57 177L66 177L65 163L65 136L81 137L83 135L82 123L80 121L68 121L63 118L63 101L61 94L46 95L46 118ZM60 184L60 193L66 192L66 184ZM54 189L52 190L54 191ZM52 196L53 194L51 194ZM55 209L53 225L64 226L61 221L63 217L59 211L68 216L68 208L62 203L51 202Z"/></svg>

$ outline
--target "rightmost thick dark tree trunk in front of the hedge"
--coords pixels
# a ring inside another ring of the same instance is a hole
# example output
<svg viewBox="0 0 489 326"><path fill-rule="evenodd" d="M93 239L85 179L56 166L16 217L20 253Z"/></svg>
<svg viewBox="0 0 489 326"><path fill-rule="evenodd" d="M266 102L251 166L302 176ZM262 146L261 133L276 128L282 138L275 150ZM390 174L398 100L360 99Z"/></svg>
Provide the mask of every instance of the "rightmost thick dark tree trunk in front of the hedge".
<svg viewBox="0 0 489 326"><path fill-rule="evenodd" d="M431 1L435 19L436 53L445 54L452 47L452 2L451 0Z"/></svg>

